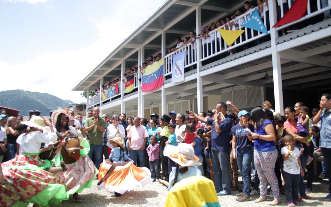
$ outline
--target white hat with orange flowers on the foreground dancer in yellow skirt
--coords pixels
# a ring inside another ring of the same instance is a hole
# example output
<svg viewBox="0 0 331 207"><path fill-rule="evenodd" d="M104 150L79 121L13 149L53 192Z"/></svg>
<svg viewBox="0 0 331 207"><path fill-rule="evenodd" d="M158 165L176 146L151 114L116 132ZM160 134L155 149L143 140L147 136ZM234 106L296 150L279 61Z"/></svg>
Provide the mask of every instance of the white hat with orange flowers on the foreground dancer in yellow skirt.
<svg viewBox="0 0 331 207"><path fill-rule="evenodd" d="M182 167L202 164L199 162L199 158L194 155L192 145L187 143L180 143L178 146L166 144L163 154Z"/></svg>

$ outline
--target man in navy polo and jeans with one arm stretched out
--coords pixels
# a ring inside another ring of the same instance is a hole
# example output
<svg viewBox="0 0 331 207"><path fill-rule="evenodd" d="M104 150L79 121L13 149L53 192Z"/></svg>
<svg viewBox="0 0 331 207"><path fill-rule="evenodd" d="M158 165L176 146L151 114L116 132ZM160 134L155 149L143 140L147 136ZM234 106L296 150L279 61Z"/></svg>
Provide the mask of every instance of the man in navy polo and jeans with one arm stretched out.
<svg viewBox="0 0 331 207"><path fill-rule="evenodd" d="M212 125L211 134L211 149L212 149L212 162L214 171L214 184L217 195L230 195L231 194L231 178L228 163L229 153L229 140L232 127L232 120L226 114L227 106L224 102L219 102L216 105L216 113L213 118L203 118L192 111L189 112L198 121ZM225 119L220 120L221 113Z"/></svg>

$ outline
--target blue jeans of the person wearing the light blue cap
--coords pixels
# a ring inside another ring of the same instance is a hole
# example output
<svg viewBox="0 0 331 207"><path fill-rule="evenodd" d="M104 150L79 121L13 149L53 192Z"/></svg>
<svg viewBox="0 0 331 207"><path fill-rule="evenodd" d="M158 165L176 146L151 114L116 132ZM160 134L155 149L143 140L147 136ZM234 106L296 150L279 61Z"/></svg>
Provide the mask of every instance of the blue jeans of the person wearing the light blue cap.
<svg viewBox="0 0 331 207"><path fill-rule="evenodd" d="M244 182L243 193L245 195L249 195L249 190L250 190L251 182L250 182L249 174L251 173L250 170L251 170L252 157L253 157L252 147L237 149L237 164L239 167L241 177L243 178L243 182Z"/></svg>

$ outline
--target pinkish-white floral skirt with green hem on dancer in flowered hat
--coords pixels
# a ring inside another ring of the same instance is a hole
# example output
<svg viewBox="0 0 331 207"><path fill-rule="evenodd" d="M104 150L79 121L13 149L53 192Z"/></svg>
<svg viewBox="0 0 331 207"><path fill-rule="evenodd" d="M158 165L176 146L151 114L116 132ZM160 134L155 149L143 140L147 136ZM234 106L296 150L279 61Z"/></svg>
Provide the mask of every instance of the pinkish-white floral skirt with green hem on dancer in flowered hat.
<svg viewBox="0 0 331 207"><path fill-rule="evenodd" d="M80 156L76 162L68 164L66 167L67 172L61 174L65 177L68 195L80 193L84 188L90 188L98 175L98 170L88 155Z"/></svg>

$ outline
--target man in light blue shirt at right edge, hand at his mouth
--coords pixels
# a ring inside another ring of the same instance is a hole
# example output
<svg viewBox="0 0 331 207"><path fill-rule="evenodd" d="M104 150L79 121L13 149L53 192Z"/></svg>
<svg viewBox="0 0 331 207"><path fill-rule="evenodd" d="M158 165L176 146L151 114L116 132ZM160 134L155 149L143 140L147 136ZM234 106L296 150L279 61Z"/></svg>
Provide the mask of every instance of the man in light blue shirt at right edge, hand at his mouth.
<svg viewBox="0 0 331 207"><path fill-rule="evenodd" d="M313 123L317 124L319 120L322 120L319 147L322 148L325 169L329 179L329 194L323 199L331 200L331 94L322 94L319 107L319 111L313 117Z"/></svg>

